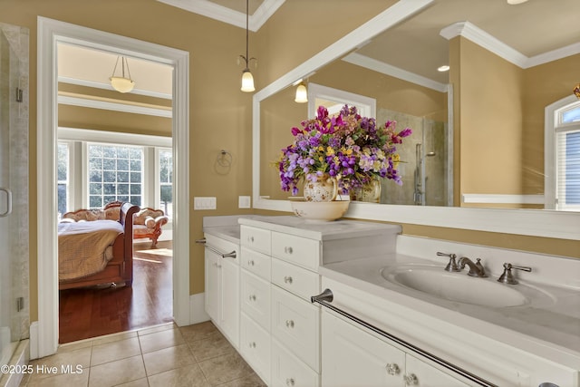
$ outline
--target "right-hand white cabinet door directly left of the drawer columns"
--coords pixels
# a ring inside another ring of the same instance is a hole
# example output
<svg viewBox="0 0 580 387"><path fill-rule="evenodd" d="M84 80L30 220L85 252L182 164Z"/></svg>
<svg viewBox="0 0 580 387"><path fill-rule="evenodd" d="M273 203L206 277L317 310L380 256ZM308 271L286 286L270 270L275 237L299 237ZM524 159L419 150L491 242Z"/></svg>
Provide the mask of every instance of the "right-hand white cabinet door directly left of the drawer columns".
<svg viewBox="0 0 580 387"><path fill-rule="evenodd" d="M239 265L235 258L221 258L219 325L229 342L239 348Z"/></svg>

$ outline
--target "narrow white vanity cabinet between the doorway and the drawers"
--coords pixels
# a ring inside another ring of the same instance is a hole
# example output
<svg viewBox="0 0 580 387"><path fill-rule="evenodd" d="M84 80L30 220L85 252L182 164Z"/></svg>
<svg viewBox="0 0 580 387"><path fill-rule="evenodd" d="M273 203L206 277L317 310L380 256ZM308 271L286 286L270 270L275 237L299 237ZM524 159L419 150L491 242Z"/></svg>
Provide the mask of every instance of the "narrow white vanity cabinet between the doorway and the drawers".
<svg viewBox="0 0 580 387"><path fill-rule="evenodd" d="M239 347L239 246L205 236L206 312L230 343Z"/></svg>

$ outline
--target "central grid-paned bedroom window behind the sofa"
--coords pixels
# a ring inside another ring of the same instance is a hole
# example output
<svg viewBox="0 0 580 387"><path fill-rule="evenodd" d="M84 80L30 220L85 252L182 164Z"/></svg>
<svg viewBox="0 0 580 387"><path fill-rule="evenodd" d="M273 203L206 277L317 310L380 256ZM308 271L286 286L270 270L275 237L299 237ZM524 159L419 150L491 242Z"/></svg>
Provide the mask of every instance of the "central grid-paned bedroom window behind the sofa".
<svg viewBox="0 0 580 387"><path fill-rule="evenodd" d="M111 201L141 206L143 150L140 147L89 144L89 208Z"/></svg>

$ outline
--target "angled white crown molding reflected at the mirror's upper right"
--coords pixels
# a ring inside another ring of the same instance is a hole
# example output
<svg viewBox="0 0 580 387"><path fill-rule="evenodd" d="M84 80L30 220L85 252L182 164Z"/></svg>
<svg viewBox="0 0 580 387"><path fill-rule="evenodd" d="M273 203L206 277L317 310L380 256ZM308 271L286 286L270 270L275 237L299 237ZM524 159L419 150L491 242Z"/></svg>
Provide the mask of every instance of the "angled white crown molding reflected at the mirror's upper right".
<svg viewBox="0 0 580 387"><path fill-rule="evenodd" d="M469 22L459 22L451 24L440 31L440 35L451 40L456 36L463 36L471 42L480 45L491 53L495 53L507 62L514 63L522 69L537 66L538 64L549 63L566 56L580 53L580 44L570 44L568 46L536 56L527 57L509 45L501 42L498 38L486 33L475 24Z"/></svg>

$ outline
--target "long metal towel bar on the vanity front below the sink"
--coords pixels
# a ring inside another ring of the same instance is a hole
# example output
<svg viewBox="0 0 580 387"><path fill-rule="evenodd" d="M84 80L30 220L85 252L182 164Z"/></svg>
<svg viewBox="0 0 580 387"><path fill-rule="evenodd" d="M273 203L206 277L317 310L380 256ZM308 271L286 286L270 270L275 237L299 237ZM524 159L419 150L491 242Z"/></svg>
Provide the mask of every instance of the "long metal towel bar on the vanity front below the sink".
<svg viewBox="0 0 580 387"><path fill-rule="evenodd" d="M376 326L361 320L360 318L354 316L353 314L345 312L342 309L337 308L334 305L331 305L330 303L333 302L333 298L334 298L333 291L330 289L325 289L324 292L321 293L320 295L313 295L310 298L310 301L313 304L317 303L317 304L323 305L325 308L328 308L337 314L343 315L344 317L348 318L349 320L352 320L356 324L361 324L363 327L371 330L375 334L380 334L383 337L391 340L391 342L398 343L399 345L403 346L404 348L410 350L412 353L416 353L416 354L419 354L420 356L426 357L430 361L432 361L434 363L438 363L440 366L446 368L447 370L458 373L459 375L463 376L464 378L468 379L471 382L475 382L480 386L498 387L497 384L488 382L485 379L482 379L482 378L478 377L477 375L474 375L473 373L466 371L466 370L460 368L459 366L457 366L453 363L449 363L449 362L441 359L439 356L435 356L432 353L429 353L425 350L422 350L416 345L408 343L397 336L394 336L392 334L389 334L388 332L383 331L381 328L377 328Z"/></svg>

